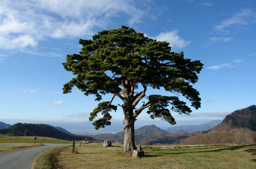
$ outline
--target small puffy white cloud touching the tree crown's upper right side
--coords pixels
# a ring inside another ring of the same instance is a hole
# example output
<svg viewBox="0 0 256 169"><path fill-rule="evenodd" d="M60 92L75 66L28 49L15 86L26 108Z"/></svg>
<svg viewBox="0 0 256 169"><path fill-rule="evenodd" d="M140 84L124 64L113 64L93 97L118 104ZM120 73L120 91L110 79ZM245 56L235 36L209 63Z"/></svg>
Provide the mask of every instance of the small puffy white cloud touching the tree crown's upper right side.
<svg viewBox="0 0 256 169"><path fill-rule="evenodd" d="M167 41L170 43L170 46L173 48L184 48L188 46L191 41L186 41L178 36L178 31L167 31L160 33L157 37L155 37L158 41Z"/></svg>

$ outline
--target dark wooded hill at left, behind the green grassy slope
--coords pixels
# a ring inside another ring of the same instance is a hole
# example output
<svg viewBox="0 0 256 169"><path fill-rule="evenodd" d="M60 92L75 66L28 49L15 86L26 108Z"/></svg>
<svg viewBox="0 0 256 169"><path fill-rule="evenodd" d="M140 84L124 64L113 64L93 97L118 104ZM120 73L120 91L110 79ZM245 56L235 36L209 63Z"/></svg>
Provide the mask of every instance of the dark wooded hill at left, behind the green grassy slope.
<svg viewBox="0 0 256 169"><path fill-rule="evenodd" d="M65 140L83 140L85 138L94 140L90 136L74 135L61 127L54 127L49 124L16 123L7 129L0 129L0 134L24 136L24 131L26 131L26 136L52 137Z"/></svg>

